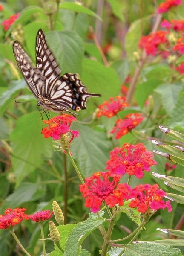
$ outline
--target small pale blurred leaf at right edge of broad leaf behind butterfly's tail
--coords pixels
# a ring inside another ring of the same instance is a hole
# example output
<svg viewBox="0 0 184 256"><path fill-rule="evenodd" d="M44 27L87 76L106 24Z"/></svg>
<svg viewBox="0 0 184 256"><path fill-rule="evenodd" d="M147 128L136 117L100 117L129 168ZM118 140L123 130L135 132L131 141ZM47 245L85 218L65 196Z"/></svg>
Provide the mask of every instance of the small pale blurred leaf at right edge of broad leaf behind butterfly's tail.
<svg viewBox="0 0 184 256"><path fill-rule="evenodd" d="M127 59L118 60L111 64L111 67L118 73L121 84L129 75L129 61Z"/></svg>

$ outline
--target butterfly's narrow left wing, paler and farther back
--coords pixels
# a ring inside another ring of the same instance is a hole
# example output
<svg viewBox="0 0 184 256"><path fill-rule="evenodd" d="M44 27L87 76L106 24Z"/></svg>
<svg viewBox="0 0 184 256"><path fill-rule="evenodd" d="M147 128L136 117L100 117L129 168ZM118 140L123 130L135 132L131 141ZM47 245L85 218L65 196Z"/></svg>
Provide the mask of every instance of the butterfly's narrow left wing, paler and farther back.
<svg viewBox="0 0 184 256"><path fill-rule="evenodd" d="M26 80L29 89L38 99L37 95L40 93L40 88L44 84L40 79L40 70L33 66L32 61L18 41L15 41L13 44L13 52L17 65Z"/></svg>

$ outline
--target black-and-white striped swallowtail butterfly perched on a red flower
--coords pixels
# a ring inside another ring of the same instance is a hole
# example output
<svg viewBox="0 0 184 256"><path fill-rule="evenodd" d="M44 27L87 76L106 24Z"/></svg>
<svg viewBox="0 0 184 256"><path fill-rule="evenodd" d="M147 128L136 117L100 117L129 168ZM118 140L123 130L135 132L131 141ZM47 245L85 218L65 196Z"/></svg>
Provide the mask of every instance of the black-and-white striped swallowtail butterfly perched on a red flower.
<svg viewBox="0 0 184 256"><path fill-rule="evenodd" d="M60 67L46 43L42 29L38 31L36 39L37 67L34 67L29 55L18 41L13 44L13 52L29 89L38 100L38 106L55 112L72 113L69 108L74 111L86 109L88 98L101 96L87 93L77 74L66 73L60 76ZM74 113L72 115L75 116Z"/></svg>

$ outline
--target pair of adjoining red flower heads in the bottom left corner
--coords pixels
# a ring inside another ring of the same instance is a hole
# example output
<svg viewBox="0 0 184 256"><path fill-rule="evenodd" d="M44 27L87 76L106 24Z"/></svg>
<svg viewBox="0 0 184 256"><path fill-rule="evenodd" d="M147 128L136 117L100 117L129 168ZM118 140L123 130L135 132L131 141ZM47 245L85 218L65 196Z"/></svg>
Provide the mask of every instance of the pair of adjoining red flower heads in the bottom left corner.
<svg viewBox="0 0 184 256"><path fill-rule="evenodd" d="M25 211L25 208L6 209L4 212L5 214L0 215L0 229L11 228L14 225L19 224L21 221L23 221L23 219L32 219L32 221L42 222L51 218L53 214L53 212L50 212L50 210L46 210L37 212L34 215L27 215L24 213Z"/></svg>

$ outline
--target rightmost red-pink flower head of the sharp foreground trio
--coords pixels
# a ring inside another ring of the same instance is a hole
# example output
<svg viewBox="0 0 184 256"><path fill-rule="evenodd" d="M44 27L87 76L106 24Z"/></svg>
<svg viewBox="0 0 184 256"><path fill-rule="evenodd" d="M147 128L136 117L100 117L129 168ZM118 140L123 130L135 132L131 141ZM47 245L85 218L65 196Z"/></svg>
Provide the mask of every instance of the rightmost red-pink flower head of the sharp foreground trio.
<svg viewBox="0 0 184 256"><path fill-rule="evenodd" d="M166 203L162 199L166 193L158 189L158 184L150 185L138 185L135 189L132 189L132 200L129 203L129 207L137 208L138 212L145 213L148 209L154 210L165 209L167 207L168 211L172 211L170 201Z"/></svg>

